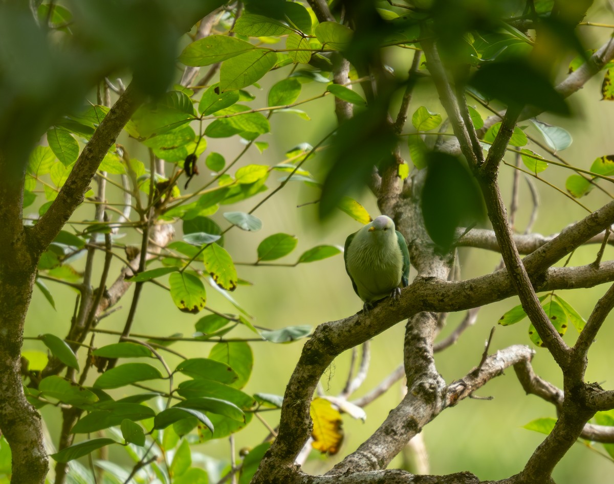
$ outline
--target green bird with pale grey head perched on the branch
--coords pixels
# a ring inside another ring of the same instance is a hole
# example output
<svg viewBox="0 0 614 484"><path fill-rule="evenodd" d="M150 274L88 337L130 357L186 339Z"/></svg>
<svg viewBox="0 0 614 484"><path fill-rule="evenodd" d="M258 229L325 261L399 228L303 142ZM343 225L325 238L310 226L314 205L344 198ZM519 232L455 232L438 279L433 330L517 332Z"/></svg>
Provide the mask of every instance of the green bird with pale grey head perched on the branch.
<svg viewBox="0 0 614 484"><path fill-rule="evenodd" d="M398 298L401 288L408 285L407 243L386 215L348 236L343 259L354 291L365 302L365 310L387 296Z"/></svg>

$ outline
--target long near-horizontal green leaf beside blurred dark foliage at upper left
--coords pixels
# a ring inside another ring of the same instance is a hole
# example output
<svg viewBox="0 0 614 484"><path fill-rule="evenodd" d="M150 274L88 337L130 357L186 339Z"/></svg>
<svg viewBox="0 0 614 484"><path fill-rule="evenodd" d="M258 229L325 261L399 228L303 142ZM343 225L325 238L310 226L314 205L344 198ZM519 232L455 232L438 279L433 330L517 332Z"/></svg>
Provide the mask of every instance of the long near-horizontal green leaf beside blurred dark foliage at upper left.
<svg viewBox="0 0 614 484"><path fill-rule="evenodd" d="M179 61L186 66L210 66L255 49L236 37L213 35L196 40L184 48Z"/></svg>

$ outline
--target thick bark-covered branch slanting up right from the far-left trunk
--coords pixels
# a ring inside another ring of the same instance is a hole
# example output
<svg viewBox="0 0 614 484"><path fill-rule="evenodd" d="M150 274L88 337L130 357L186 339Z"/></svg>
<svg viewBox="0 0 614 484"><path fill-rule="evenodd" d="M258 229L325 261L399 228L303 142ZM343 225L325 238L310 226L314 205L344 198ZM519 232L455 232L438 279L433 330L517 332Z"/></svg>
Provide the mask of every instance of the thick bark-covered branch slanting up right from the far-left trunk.
<svg viewBox="0 0 614 484"><path fill-rule="evenodd" d="M141 94L132 85L128 86L101 121L49 210L36 225L28 229L33 250L38 253L43 252L71 217L72 212L81 204L104 155L141 104L142 99Z"/></svg>

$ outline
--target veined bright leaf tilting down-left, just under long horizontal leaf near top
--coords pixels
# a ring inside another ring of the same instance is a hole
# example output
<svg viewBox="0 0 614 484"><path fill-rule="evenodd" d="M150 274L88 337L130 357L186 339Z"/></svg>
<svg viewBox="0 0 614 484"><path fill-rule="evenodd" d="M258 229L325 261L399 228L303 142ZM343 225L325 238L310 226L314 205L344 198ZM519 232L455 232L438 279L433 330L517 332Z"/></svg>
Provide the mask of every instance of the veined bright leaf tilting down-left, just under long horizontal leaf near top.
<svg viewBox="0 0 614 484"><path fill-rule="evenodd" d="M257 48L223 61L220 89L231 91L249 86L260 79L277 62L277 53Z"/></svg>

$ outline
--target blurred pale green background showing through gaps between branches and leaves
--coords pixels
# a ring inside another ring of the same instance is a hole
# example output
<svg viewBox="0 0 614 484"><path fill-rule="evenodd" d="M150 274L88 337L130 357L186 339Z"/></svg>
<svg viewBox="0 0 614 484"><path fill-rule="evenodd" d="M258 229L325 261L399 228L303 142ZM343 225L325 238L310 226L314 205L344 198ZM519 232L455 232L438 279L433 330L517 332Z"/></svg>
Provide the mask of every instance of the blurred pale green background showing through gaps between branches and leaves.
<svg viewBox="0 0 614 484"><path fill-rule="evenodd" d="M591 12L591 20L610 21L605 10L595 7ZM608 35L607 29L591 29L580 27L581 34L588 39L587 45L599 45ZM395 68L405 68L411 62L411 51L406 51L394 58L387 58L387 63ZM287 68L286 68L287 69ZM268 87L276 80L287 75L284 69L271 74L262 82L262 90L254 91L256 99L250 106L265 106L266 92ZM572 97L571 105L574 110L572 118L558 118L543 115L541 120L559 125L570 131L573 136L573 144L570 148L561 152L571 164L588 169L593 160L599 156L614 153L614 104L600 101L599 75L589 81L586 86ZM325 85L309 83L303 85L302 98L308 98L321 93ZM253 90L253 88L252 88ZM437 94L429 82L420 82L410 105L409 113L414 112L419 106L426 106L432 111L444 113ZM263 140L270 143L270 147L262 154L255 148L241 159L241 164L250 163L279 163L284 159L284 153L301 142L316 144L321 137L328 133L334 126L333 99L328 96L302 106L311 121L295 117L290 113L276 113L271 117L271 133ZM483 117L488 115L486 110L478 110ZM523 125L524 123L521 123ZM533 128L527 132L534 134ZM138 145L124 139L131 156L146 159L146 153L138 152ZM527 148L532 148L529 144ZM205 152L216 151L222 153L227 160L232 159L243 149L238 137L223 140L209 140L209 146ZM406 152L404 153L408 159ZM508 155L509 160L512 155ZM322 156L316 156L313 161L305 165L313 172L316 179L322 180L326 167L322 164ZM550 166L543 172L543 178L556 186L564 188L565 179L570 172L555 166ZM206 169L201 169L198 179L192 180L192 187L206 182L210 174ZM511 198L512 169L502 166L500 169L500 185L503 196L509 203ZM522 179L522 177L521 177ZM540 192L540 207L537 223L534 231L540 234L553 234L565 226L585 217L586 212L577 204L565 198L564 195L554 191L543 183L534 180ZM270 188L277 186L276 175L272 174L267 185ZM119 196L109 191L109 198ZM241 202L233 210L249 210L259 200L259 197ZM367 191L357 191L357 200L361 202L372 217L378 214L375 199ZM262 219L264 226L260 232L243 232L237 229L231 231L225 242L225 247L233 256L236 263L253 263L256 258L258 243L270 234L286 232L298 237L298 247L294 253L281 259L279 262L293 263L298 255L318 244L333 244L343 247L346 236L360 228L359 223L349 218L344 213L337 213L331 220L319 223L316 218L317 207L301 204L316 201L319 191L309 188L302 183L289 183L284 190L276 194L271 201L267 202L255 213ZM521 180L520 209L518 212L516 228L523 231L529 220L532 202L524 180ZM600 191L594 190L583 200L590 209L594 210L602 206L610 199ZM508 204L509 206L509 204ZM28 213L36 213L37 207L26 209ZM74 216L74 220L91 218L93 209L90 206L81 207ZM227 226L221 213L213 216L222 228ZM177 237L181 234L181 227L177 226ZM132 234L122 239L122 242L136 243L137 237ZM594 260L597 245L583 247L577 250L570 259L569 265L579 266L591 263ZM604 260L612 258L612 248L605 251ZM464 248L459 251L462 278L476 277L486 274L494 269L499 263L496 253L484 250ZM79 265L81 264L81 266ZM82 267L83 260L76 263L76 267ZM562 264L562 262L560 263ZM113 263L111 278L119 274L121 266ZM341 255L331 259L325 259L309 264L300 264L297 267L254 267L238 265L239 277L254 283L253 286L239 286L233 293L243 307L257 318L257 324L266 328L277 329L290 325L312 325L330 320L348 317L362 307L362 302L352 291L351 283L344 270ZM101 267L98 267L99 274ZM411 278L415 275L413 271ZM39 291L34 292L31 309L28 313L25 336L37 336L43 332L54 334L66 334L69 328L69 320L72 315L76 293L62 285L48 284L56 300L57 310L54 311ZM607 286L598 286L591 289L575 291L561 291L570 304L585 318L588 317L597 299L605 292ZM101 322L100 328L115 329L121 331L125 322L127 309L131 300L131 291L120 301L123 309L113 313ZM470 327L461 337L459 342L448 350L436 355L437 367L446 382L452 382L467 374L476 366L481 357L484 341L488 338L492 326L506 310L519 304L518 298L510 298L506 301L484 307L478 316L476 324ZM216 291L208 290L208 305L223 312L235 312L235 309ZM172 303L169 295L161 288L147 284L141 296L141 303L133 325L134 333L168 336L174 332L182 332L189 336L194 332L194 323L201 315L181 313ZM462 320L464 313L449 315L448 323L439 339L453 331L457 323ZM497 349L511 344L528 344L527 336L528 321L523 321L514 326L497 327L491 345L491 353ZM378 385L397 365L402 361L403 323L398 323L389 331L376 337L371 345L371 366L368 378L354 397L371 390ZM575 330L570 330L565 335L568 344L573 344L577 336ZM247 329L233 332L233 337L252 337L253 334ZM608 317L599 337L589 353L589 367L587 378L589 381L599 382L604 388L610 388L614 380L614 352L612 341L614 329L612 317ZM99 334L96 336L95 345L100 347L104 344L116 342L117 337ZM304 340L292 344L272 344L269 342L254 342L251 344L254 351L254 372L251 380L244 391L247 393L274 393L283 394L285 385L300 355ZM207 356L212 344L206 342L187 343L179 342L173 348L180 353L190 356ZM42 343L26 340L24 350L44 350ZM533 361L535 372L554 385L562 386L561 374L551 356L546 350L536 348ZM172 367L179 359L169 355L169 365ZM348 374L349 353L344 353L335 360L328 372L322 379L322 386L327 394L338 393L345 383ZM91 375L91 381L96 375ZM367 421L352 420L344 415L343 428L345 432L344 444L338 455L324 457L312 453L305 468L311 472L324 472L333 466L347 453L354 451L371 432L386 417L400 401L402 382L394 385L391 390L377 401L365 408ZM483 389L478 391L479 396L492 396L492 400L466 399L456 407L446 409L439 417L424 428L422 435L429 452L430 471L433 474L448 474L451 472L470 471L483 480L508 477L519 472L534 451L535 447L542 442L543 435L523 429L523 425L535 418L556 417L554 407L535 396L526 396L514 372L510 369L505 375L492 380ZM115 396L120 396L116 394ZM51 436L57 436L60 425L60 410L53 407L42 409L45 424L49 428ZM265 414L266 420L275 426L278 420L278 412ZM268 430L257 419L254 419L246 429L236 434L237 448L254 447L266 435ZM54 442L57 444L57 442ZM600 445L595 445L596 450L604 454ZM227 439L201 444L198 450L215 458L229 460L229 446ZM609 458L605 458L596 450L591 450L585 445L578 443L562 459L556 467L553 478L558 484L576 483L605 483L612 482L614 476L614 464ZM113 449L112 456L128 464L123 451ZM113 458L113 457L112 457ZM397 458L391 467L400 464Z"/></svg>

